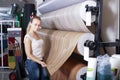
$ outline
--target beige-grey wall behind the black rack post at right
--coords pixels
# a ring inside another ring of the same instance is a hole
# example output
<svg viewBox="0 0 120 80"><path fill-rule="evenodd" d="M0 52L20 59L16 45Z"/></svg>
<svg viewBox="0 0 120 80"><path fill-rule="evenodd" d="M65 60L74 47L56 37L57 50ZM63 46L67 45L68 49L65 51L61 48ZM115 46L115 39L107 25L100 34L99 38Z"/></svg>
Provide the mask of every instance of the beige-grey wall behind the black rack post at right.
<svg viewBox="0 0 120 80"><path fill-rule="evenodd" d="M102 38L106 42L114 42L118 38L118 3L119 0L103 0ZM115 48L107 48L110 54Z"/></svg>

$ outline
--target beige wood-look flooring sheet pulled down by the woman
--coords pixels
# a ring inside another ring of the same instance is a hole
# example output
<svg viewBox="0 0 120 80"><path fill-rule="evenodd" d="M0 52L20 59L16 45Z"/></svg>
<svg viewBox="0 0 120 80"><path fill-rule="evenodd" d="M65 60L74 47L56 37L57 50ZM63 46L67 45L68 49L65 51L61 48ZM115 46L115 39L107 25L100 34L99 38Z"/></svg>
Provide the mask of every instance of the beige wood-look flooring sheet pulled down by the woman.
<svg viewBox="0 0 120 80"><path fill-rule="evenodd" d="M91 37L92 33L42 29L39 34L41 34L46 41L45 43L47 46L45 51L46 54L49 54L47 55L46 63L48 71L52 75L70 57L77 44L80 43L78 41L82 41L80 39ZM83 46L83 43L80 45ZM78 51L79 54L83 54L80 50Z"/></svg>

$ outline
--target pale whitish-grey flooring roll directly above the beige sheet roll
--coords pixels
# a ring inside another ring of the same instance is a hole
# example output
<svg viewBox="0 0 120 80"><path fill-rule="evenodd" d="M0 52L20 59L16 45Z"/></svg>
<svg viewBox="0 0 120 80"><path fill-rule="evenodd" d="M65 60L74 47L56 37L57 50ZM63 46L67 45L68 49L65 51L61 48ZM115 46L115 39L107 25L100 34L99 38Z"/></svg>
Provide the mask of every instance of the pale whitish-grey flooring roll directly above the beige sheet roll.
<svg viewBox="0 0 120 80"><path fill-rule="evenodd" d="M86 8L85 6L96 6L96 2L88 0L69 7L40 15L42 27L46 29L58 29L67 31L90 32L86 27ZM91 23L95 21L92 15Z"/></svg>

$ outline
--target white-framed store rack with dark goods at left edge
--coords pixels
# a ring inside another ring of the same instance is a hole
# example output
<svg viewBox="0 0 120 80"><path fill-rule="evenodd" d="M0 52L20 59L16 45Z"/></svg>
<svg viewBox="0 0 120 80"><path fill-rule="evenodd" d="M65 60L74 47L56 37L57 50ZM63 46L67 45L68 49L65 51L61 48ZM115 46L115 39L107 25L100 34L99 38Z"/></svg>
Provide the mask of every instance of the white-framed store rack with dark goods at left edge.
<svg viewBox="0 0 120 80"><path fill-rule="evenodd" d="M9 68L8 67L7 28L16 27L16 23L19 24L19 21L0 20L0 68Z"/></svg>

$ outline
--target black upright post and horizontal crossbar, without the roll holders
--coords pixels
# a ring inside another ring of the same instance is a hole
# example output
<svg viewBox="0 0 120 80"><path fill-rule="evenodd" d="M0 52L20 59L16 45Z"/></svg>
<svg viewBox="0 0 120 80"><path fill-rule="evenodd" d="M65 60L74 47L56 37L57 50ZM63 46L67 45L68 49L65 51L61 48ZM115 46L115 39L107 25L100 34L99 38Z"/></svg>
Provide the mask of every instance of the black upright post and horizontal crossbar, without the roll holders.
<svg viewBox="0 0 120 80"><path fill-rule="evenodd" d="M100 54L99 48L100 47L116 47L116 54L120 54L120 30L119 30L119 39L116 39L115 42L101 42L101 26L102 26L102 4L103 0L97 0L97 5L99 7L99 13L97 18L97 33L95 34L95 43L96 43L96 49L95 54L96 56ZM120 13L119 13L120 14ZM119 28L120 29L120 28Z"/></svg>

